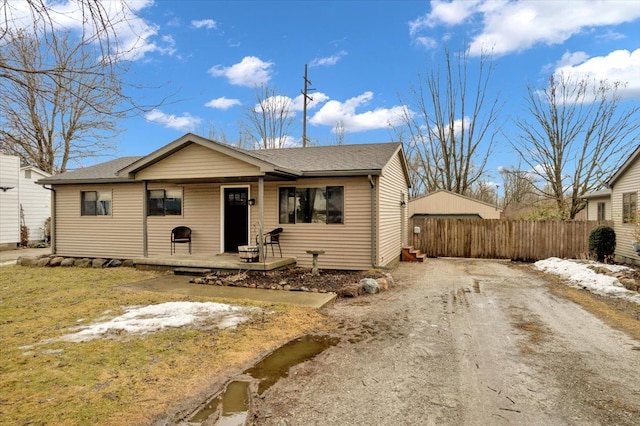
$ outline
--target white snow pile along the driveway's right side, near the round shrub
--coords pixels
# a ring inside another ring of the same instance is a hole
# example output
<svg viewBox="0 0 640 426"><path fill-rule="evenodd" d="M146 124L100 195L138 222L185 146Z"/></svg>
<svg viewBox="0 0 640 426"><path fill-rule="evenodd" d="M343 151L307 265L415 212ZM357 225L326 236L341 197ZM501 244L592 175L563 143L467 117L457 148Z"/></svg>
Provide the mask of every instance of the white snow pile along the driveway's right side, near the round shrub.
<svg viewBox="0 0 640 426"><path fill-rule="evenodd" d="M627 290L620 284L616 277L599 274L590 267L601 267L609 269L611 272L621 272L630 270L625 266L607 265L598 262L578 262L574 260L563 260L557 257L539 260L534 263L536 269L558 275L571 284L586 288L596 294L620 297L640 304L640 295Z"/></svg>

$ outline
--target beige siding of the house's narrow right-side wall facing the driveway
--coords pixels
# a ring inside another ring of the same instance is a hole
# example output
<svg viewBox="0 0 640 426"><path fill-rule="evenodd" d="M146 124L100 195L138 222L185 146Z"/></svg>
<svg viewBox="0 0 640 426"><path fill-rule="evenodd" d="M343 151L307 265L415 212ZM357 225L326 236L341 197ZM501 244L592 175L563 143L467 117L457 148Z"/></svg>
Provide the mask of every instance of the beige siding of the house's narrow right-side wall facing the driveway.
<svg viewBox="0 0 640 426"><path fill-rule="evenodd" d="M406 222L403 223L404 208L400 203L406 201L407 181L398 154L384 167L378 180L378 194L377 262L384 266L400 259L402 234L406 228Z"/></svg>

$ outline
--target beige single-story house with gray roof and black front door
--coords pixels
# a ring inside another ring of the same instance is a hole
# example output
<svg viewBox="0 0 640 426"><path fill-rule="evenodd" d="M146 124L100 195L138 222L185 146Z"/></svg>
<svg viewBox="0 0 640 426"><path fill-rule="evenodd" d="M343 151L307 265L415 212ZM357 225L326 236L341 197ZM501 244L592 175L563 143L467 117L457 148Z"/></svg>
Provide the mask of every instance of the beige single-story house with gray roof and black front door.
<svg viewBox="0 0 640 426"><path fill-rule="evenodd" d="M400 258L410 187L400 143L244 150L193 134L39 183L53 190L60 256L170 258L172 229L187 226L191 253L176 255L210 257L282 228L298 265L324 250L323 268L353 270Z"/></svg>

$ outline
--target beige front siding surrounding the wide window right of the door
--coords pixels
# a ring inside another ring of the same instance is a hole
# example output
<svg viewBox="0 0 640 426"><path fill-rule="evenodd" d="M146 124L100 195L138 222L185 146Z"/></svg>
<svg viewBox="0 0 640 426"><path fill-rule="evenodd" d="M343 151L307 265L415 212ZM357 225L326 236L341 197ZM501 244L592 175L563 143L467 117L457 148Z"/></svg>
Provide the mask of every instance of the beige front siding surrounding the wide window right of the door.
<svg viewBox="0 0 640 426"><path fill-rule="evenodd" d="M344 186L344 223L280 224L278 188L281 186L317 188ZM257 190L252 194L257 196ZM326 253L319 257L321 269L368 269L371 267L370 194L366 176L265 183L264 230L283 228L284 232L280 237L283 256L296 257L301 267L311 267L311 255L306 253L307 250L322 249ZM252 229L257 228L257 207L256 205L252 209L256 210L251 216ZM269 256L271 256L270 249Z"/></svg>

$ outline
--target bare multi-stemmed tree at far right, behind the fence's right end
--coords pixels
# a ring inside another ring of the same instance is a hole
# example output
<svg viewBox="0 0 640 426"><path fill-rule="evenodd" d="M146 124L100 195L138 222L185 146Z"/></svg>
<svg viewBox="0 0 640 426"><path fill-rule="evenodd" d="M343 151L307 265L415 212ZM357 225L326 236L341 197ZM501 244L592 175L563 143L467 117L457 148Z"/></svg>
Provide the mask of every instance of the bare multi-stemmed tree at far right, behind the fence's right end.
<svg viewBox="0 0 640 426"><path fill-rule="evenodd" d="M543 89L528 88L530 117L516 120L520 134L512 146L563 219L574 219L585 207L581 197L637 146L640 107L622 107L623 85L559 75Z"/></svg>

